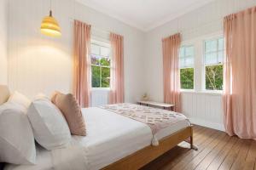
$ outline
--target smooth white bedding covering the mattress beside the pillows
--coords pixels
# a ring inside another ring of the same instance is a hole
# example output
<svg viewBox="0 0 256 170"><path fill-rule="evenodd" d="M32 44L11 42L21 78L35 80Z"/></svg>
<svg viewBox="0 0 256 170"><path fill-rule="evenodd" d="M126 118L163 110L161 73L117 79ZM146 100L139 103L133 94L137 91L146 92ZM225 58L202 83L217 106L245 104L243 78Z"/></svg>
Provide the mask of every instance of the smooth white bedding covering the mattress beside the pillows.
<svg viewBox="0 0 256 170"><path fill-rule="evenodd" d="M96 107L83 109L83 114L86 137L73 136L69 149L38 149L37 165L7 165L5 170L100 169L151 144L151 129L143 122ZM189 125L187 120L177 122L156 137L160 140Z"/></svg>

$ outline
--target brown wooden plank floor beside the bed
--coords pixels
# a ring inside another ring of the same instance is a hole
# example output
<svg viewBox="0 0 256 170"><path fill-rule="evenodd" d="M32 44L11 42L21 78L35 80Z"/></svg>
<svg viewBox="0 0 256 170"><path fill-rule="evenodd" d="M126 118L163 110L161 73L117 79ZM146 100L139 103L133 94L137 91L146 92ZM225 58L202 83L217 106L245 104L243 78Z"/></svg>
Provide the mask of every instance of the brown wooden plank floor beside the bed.
<svg viewBox="0 0 256 170"><path fill-rule="evenodd" d="M200 126L194 127L194 139L197 151L186 148L188 144L179 144L142 170L256 170L255 140L230 137Z"/></svg>

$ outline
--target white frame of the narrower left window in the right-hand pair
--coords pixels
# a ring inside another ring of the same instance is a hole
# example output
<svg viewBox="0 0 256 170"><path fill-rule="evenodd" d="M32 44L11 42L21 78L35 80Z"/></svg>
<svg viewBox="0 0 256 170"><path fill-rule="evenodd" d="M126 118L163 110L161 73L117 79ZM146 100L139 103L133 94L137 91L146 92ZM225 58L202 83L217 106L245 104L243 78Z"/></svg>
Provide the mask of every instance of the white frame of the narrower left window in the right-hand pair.
<svg viewBox="0 0 256 170"><path fill-rule="evenodd" d="M185 41L185 42L182 42L181 43L181 46L179 48L179 53L180 53L180 49L183 48L183 47L190 47L190 46L193 46L194 48L194 67L184 67L184 68L181 68L180 65L178 65L178 71L180 73L180 69L186 69L186 68L193 68L194 69L194 81L193 81L193 89L185 89L185 88L181 88L181 82L180 82L180 78L179 78L179 83L180 83L180 91L181 92L195 92L195 44L194 42L191 42L191 41ZM180 59L180 54L178 54L178 59ZM180 62L180 60L179 60Z"/></svg>

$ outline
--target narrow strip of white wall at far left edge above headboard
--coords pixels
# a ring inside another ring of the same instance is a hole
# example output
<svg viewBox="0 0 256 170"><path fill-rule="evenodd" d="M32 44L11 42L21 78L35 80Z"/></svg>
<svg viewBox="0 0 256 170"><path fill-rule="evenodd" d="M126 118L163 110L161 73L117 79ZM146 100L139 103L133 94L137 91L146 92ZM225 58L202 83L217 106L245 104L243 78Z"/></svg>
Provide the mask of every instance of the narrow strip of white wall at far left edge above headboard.
<svg viewBox="0 0 256 170"><path fill-rule="evenodd" d="M0 1L0 84L7 84L8 0Z"/></svg>

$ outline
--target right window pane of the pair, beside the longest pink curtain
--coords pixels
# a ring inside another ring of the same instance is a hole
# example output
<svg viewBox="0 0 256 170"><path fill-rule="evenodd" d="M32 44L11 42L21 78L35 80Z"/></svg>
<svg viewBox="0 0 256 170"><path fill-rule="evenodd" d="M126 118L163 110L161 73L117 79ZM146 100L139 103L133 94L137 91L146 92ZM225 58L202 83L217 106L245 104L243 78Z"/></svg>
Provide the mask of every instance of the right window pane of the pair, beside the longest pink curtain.
<svg viewBox="0 0 256 170"><path fill-rule="evenodd" d="M223 89L224 38L205 41L205 86L207 90Z"/></svg>

